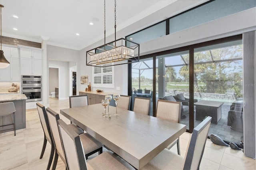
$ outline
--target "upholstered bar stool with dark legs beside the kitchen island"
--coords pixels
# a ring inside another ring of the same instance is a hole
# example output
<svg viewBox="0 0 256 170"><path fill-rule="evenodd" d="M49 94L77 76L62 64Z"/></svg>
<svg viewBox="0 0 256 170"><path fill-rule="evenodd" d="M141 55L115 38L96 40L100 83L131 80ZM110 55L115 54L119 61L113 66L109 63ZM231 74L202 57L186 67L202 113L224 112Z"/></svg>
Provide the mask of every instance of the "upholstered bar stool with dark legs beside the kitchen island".
<svg viewBox="0 0 256 170"><path fill-rule="evenodd" d="M4 116L13 114L13 124L14 125L14 136L16 136L15 128L15 113L16 109L13 102L0 103L0 116L2 116L2 128L4 127Z"/></svg>

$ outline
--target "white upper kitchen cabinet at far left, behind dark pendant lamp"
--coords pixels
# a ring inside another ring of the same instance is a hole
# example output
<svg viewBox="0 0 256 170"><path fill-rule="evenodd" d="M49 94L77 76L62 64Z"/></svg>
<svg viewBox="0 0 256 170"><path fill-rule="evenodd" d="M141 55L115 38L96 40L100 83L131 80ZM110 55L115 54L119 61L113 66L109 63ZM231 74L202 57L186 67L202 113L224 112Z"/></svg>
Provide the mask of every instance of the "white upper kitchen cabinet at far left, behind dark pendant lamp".
<svg viewBox="0 0 256 170"><path fill-rule="evenodd" d="M0 69L0 81L20 81L20 57L18 48L3 46L2 50L10 65L4 69Z"/></svg>

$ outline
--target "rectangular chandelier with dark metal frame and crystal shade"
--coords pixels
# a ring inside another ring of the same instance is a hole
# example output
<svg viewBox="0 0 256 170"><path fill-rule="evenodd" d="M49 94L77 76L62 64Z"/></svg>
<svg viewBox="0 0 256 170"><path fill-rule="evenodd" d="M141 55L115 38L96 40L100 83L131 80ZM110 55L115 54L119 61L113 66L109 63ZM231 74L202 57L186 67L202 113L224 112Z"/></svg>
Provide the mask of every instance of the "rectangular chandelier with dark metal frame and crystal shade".
<svg viewBox="0 0 256 170"><path fill-rule="evenodd" d="M106 63L121 65L140 60L140 45L120 38L100 47L86 51L86 65L106 67Z"/></svg>

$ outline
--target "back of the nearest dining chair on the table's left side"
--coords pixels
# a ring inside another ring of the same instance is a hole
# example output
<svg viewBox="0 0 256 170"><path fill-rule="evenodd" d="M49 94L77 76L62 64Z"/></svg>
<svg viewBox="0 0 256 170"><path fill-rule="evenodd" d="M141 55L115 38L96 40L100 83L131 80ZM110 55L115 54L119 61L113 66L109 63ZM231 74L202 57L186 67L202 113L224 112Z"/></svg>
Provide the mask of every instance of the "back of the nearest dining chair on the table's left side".
<svg viewBox="0 0 256 170"><path fill-rule="evenodd" d="M82 147L79 135L61 119L58 120L58 124L68 169L87 169L84 148Z"/></svg>

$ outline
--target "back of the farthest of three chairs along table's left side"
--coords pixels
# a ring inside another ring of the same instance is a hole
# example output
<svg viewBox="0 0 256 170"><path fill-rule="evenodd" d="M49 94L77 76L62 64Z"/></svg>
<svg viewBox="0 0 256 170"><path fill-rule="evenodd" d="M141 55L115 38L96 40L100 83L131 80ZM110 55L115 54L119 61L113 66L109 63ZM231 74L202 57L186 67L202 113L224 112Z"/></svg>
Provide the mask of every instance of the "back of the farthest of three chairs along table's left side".
<svg viewBox="0 0 256 170"><path fill-rule="evenodd" d="M38 111L38 115L40 118L42 128L44 130L44 135L45 135L46 139L52 144L52 132L50 129L46 109L40 103L36 103L36 107L37 107L37 111Z"/></svg>

